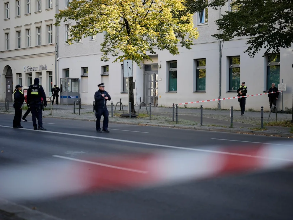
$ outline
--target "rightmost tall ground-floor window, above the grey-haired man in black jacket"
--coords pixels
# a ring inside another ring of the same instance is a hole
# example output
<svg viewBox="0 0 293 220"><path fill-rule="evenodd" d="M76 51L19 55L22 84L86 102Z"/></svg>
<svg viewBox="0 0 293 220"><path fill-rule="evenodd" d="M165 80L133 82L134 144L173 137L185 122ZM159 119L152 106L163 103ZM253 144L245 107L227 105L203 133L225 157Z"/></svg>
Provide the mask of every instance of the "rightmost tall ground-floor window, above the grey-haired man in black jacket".
<svg viewBox="0 0 293 220"><path fill-rule="evenodd" d="M266 90L271 88L272 83L280 83L280 54L269 54L266 66Z"/></svg>

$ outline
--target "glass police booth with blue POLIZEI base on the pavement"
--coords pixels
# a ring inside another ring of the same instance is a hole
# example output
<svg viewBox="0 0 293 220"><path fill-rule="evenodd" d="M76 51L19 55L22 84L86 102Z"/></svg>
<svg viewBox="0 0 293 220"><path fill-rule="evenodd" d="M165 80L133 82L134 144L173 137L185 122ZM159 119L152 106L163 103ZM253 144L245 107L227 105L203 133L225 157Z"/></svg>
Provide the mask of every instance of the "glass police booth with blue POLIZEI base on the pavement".
<svg viewBox="0 0 293 220"><path fill-rule="evenodd" d="M79 78L60 78L60 104L71 105L79 100Z"/></svg>

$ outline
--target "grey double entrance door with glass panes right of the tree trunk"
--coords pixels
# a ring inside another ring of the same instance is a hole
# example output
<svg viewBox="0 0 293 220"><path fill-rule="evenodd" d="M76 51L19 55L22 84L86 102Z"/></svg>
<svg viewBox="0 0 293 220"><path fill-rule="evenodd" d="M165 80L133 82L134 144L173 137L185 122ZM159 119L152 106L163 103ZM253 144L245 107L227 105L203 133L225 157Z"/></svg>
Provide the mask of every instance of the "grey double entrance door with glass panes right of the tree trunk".
<svg viewBox="0 0 293 220"><path fill-rule="evenodd" d="M158 104L158 73L147 73L147 104Z"/></svg>

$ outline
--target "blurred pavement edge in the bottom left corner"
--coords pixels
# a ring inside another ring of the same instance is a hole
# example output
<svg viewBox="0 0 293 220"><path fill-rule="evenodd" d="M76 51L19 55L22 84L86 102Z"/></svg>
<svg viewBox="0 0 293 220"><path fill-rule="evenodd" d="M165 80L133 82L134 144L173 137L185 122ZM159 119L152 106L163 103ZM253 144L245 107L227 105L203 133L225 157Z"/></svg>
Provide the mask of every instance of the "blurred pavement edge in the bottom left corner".
<svg viewBox="0 0 293 220"><path fill-rule="evenodd" d="M1 198L0 211L19 220L64 220Z"/></svg>

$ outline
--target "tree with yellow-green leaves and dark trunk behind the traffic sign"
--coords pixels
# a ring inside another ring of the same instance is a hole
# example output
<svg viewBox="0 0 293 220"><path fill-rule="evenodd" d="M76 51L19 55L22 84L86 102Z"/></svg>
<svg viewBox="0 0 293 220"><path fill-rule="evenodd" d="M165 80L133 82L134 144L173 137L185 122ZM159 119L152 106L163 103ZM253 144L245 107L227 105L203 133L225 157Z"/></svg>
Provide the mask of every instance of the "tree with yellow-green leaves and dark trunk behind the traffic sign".
<svg viewBox="0 0 293 220"><path fill-rule="evenodd" d="M111 55L114 62L132 59L139 67L144 59L151 60L147 54L155 54L155 48L176 55L179 45L191 49L198 38L184 0L73 0L55 17L55 25L62 20L80 22L71 26L67 43L106 31L101 60ZM136 113L132 77L128 83L131 112Z"/></svg>

